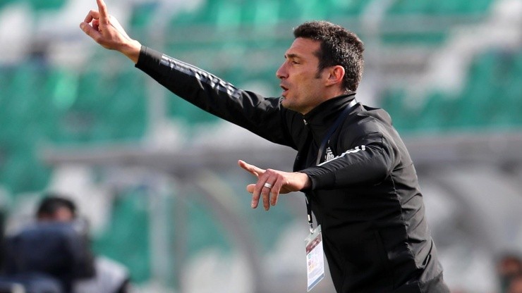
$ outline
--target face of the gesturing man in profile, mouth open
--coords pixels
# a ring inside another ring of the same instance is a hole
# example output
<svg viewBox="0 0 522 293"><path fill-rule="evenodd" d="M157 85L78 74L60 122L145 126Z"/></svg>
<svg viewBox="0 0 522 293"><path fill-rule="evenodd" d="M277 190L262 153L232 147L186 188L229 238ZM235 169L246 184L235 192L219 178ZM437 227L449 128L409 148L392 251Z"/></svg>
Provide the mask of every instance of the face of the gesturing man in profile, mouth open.
<svg viewBox="0 0 522 293"><path fill-rule="evenodd" d="M324 72L317 73L319 58L315 52L319 50L319 41L298 37L286 51L285 61L276 73L285 108L305 114L327 98Z"/></svg>

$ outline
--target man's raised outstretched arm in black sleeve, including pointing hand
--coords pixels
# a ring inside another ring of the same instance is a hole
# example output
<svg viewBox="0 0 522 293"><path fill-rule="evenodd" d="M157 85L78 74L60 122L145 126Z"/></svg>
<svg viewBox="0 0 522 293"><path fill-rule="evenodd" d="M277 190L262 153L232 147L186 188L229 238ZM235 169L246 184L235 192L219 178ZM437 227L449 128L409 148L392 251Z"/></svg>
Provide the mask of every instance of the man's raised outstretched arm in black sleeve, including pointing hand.
<svg viewBox="0 0 522 293"><path fill-rule="evenodd" d="M131 39L116 18L109 15L103 0L98 11L89 11L80 23L82 30L106 49L120 51L135 67L157 80L177 96L204 111L239 125L277 144L295 148L289 124L303 123L289 113L280 99L238 89L231 83L193 65L171 58Z"/></svg>

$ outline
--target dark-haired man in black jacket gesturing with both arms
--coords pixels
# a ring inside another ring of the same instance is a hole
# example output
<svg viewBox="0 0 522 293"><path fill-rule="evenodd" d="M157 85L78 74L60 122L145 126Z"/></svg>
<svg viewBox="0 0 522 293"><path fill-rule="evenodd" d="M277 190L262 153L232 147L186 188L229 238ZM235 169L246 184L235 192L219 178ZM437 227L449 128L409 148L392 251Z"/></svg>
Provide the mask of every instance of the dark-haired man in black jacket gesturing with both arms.
<svg viewBox="0 0 522 293"><path fill-rule="evenodd" d="M355 34L327 22L297 27L276 73L281 98L266 99L142 46L97 4L80 23L97 43L195 106L298 151L292 173L238 164L257 176L247 187L253 208L305 193L337 292L449 292L408 151L386 112L355 100L363 72Z"/></svg>

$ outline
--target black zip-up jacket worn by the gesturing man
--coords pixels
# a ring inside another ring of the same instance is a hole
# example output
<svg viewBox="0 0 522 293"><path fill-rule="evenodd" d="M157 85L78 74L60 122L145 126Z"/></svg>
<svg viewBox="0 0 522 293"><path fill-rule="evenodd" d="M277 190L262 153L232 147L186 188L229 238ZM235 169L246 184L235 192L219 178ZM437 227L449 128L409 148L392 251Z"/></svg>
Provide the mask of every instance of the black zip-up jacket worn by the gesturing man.
<svg viewBox="0 0 522 293"><path fill-rule="evenodd" d="M312 180L303 192L337 292L449 292L415 168L385 111L353 106L316 166L318 146L353 94L303 116L145 46L136 67L195 106L298 151L294 170Z"/></svg>

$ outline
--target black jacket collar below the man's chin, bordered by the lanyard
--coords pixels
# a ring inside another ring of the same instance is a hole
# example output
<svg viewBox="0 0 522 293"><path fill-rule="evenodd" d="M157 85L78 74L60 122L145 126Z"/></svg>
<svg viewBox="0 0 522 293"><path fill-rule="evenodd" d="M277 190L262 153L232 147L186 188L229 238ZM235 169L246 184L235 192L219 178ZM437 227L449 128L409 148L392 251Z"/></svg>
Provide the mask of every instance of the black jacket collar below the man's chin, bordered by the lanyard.
<svg viewBox="0 0 522 293"><path fill-rule="evenodd" d="M308 129L312 132L315 144L320 144L322 137L324 137L329 127L332 126L350 101L355 99L355 95L355 93L344 94L328 99L313 108L312 111L303 115Z"/></svg>

